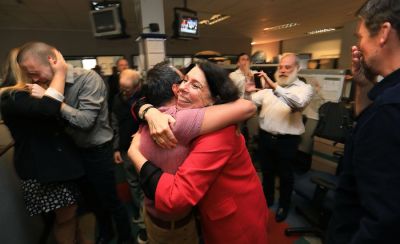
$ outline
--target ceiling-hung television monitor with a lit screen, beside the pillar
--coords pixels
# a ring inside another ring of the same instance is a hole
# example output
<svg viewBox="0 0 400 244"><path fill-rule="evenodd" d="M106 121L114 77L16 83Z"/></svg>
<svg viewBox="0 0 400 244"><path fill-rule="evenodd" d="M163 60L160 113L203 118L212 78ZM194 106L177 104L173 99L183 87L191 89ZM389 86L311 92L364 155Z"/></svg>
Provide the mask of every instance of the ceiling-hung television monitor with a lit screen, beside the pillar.
<svg viewBox="0 0 400 244"><path fill-rule="evenodd" d="M193 39L199 37L199 19L195 11L175 8L174 37Z"/></svg>

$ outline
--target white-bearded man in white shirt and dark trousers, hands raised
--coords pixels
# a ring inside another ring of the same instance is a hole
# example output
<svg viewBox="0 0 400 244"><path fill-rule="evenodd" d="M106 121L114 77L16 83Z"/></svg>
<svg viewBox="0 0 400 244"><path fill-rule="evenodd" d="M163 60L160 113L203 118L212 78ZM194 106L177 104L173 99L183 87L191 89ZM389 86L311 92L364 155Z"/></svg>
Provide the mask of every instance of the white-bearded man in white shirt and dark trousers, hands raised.
<svg viewBox="0 0 400 244"><path fill-rule="evenodd" d="M275 220L286 219L294 176L292 161L297 153L300 135L304 133L302 111L313 95L311 85L299 80L299 60L294 53L282 56L274 83L264 72L267 89L252 94L251 99L261 106L259 115L259 149L263 170L263 188L268 206L274 203L275 177L280 178L279 206Z"/></svg>

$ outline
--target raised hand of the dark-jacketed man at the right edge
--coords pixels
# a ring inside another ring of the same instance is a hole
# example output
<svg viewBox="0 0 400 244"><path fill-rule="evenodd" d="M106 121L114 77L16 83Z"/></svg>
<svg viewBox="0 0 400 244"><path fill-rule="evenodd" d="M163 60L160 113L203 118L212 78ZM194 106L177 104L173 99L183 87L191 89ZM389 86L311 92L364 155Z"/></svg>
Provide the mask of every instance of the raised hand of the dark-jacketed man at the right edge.
<svg viewBox="0 0 400 244"><path fill-rule="evenodd" d="M376 81L376 77L365 67L362 53L357 46L351 47L351 71L354 82L359 86L370 85Z"/></svg>

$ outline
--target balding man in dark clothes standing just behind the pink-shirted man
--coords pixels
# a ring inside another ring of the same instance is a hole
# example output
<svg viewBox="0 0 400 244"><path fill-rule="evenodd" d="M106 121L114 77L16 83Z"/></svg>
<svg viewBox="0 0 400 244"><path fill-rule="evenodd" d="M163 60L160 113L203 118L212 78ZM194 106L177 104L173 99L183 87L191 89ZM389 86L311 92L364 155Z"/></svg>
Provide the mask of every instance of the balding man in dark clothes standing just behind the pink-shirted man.
<svg viewBox="0 0 400 244"><path fill-rule="evenodd" d="M139 226L138 243L146 241L145 226L141 217L143 205L143 191L139 186L138 175L132 162L127 157L132 135L136 133L139 122L131 115L131 105L139 98L141 86L140 73L133 69L125 69L119 75L119 93L115 95L112 105L111 126L114 131L114 162L123 163L126 180L129 184L133 200L133 222Z"/></svg>

